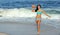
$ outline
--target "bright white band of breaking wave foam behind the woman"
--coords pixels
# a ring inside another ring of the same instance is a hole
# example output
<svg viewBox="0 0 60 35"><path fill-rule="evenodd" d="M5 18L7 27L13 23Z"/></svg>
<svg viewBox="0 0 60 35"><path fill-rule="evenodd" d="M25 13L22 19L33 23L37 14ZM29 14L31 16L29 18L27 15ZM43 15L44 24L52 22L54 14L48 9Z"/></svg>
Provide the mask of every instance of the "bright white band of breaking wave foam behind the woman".
<svg viewBox="0 0 60 35"><path fill-rule="evenodd" d="M27 8L20 8L20 9L0 9L0 15L2 17L35 17L36 12L32 12L30 9ZM49 19L59 19L60 14L48 14L51 16ZM48 18L44 14L42 14L42 18Z"/></svg>

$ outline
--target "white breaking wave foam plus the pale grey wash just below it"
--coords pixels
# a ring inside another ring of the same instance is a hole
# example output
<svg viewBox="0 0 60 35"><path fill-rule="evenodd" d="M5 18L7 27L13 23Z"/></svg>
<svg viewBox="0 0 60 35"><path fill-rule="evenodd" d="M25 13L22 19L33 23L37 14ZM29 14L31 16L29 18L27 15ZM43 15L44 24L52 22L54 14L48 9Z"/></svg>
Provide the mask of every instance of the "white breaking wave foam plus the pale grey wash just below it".
<svg viewBox="0 0 60 35"><path fill-rule="evenodd" d="M36 12L32 12L30 9L27 9L27 8L0 9L0 15L2 15L2 17L0 17L0 22L3 22L3 21L35 22ZM51 18L48 18L46 15L42 14L42 18L46 19L46 20L42 20L42 23L49 24L58 28L60 26L59 24L60 14L48 14L48 15L50 15ZM48 19L52 19L52 20L48 20Z"/></svg>

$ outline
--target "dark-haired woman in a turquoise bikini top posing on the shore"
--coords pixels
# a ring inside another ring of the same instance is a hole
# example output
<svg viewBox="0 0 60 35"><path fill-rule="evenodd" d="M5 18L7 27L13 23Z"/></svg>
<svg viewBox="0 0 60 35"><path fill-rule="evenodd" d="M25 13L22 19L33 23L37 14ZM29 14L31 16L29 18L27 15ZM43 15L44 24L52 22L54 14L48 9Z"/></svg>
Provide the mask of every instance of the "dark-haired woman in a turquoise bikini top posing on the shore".
<svg viewBox="0 0 60 35"><path fill-rule="evenodd" d="M50 17L50 16L47 15L46 12L41 9L40 4L38 4L37 7L35 5L32 5L32 12L37 12L36 23L37 23L37 29L38 29L38 34L39 34L40 33L41 14L44 13L46 16L48 16L48 17Z"/></svg>

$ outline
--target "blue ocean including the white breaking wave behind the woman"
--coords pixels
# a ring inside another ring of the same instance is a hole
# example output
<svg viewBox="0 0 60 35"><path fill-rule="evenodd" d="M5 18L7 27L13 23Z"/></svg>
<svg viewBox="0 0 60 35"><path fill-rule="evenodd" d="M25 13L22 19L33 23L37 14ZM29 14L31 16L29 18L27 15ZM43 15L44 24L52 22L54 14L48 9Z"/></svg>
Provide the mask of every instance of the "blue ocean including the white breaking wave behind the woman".
<svg viewBox="0 0 60 35"><path fill-rule="evenodd" d="M32 4L41 4L42 8L51 18L42 14L44 19L60 19L60 1L6 1L0 2L0 20L15 18L35 18L36 12L32 12ZM10 20L10 19L9 19Z"/></svg>

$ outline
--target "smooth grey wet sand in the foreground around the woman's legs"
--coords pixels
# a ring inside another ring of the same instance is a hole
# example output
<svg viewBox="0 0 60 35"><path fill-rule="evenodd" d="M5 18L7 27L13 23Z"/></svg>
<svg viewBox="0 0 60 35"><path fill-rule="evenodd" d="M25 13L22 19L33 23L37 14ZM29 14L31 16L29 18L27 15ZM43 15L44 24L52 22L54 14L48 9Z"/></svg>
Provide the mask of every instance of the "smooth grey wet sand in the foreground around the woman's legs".
<svg viewBox="0 0 60 35"><path fill-rule="evenodd" d="M37 27L34 21L0 21L0 32L9 35L37 35ZM60 35L60 28L41 23L40 35Z"/></svg>

